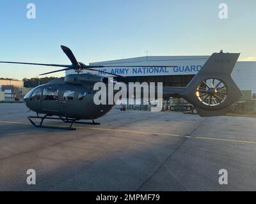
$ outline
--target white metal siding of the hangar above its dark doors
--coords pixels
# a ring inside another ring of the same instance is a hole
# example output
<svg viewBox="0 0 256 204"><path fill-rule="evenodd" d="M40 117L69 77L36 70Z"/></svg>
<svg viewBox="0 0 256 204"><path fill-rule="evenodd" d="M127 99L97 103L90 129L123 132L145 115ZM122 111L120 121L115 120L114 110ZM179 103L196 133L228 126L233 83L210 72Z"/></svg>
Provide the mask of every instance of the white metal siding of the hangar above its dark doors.
<svg viewBox="0 0 256 204"><path fill-rule="evenodd" d="M118 68L118 65L134 65L134 66L167 66L174 65L179 66L177 69L168 68L161 73L152 72L152 73L141 73L140 71L132 72L132 68L129 68L127 71L122 70L121 75L124 76L156 76L156 75L195 75L197 73L197 68L202 67L207 61L209 56L149 56L149 57L136 57L129 59L120 59L115 61L105 61L105 62L94 62L90 65L108 65L113 66L113 68L106 68L106 71L115 71L121 70ZM185 60L184 60L185 59ZM116 70L115 70L116 69ZM138 68L140 69L140 68ZM66 71L66 75L72 74L74 71ZM97 75L104 75L97 71L84 71L84 73L94 73ZM117 73L118 74L118 73ZM119 73L120 74L120 73ZM241 90L252 90L253 94L256 94L256 62L245 62L238 61L233 72L232 78L236 82L237 86Z"/></svg>

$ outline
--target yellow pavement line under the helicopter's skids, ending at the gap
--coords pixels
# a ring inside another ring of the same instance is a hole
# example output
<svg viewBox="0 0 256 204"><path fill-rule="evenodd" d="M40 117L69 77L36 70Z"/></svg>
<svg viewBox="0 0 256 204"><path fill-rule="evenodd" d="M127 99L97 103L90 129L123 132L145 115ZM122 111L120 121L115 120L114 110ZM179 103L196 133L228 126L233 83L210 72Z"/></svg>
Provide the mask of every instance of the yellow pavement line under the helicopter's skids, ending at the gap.
<svg viewBox="0 0 256 204"><path fill-rule="evenodd" d="M29 125L29 122L12 122L12 121L6 121L6 120L0 120L0 122L3 123L10 123L10 124L26 124ZM51 124L47 124L47 126L54 126ZM67 126L54 126L54 127L67 127ZM75 128L80 128L80 129L95 129L95 130L103 130L103 131L115 131L115 132L122 132L122 133L139 133L139 134L144 134L144 135L164 135L164 136L175 136L175 137L180 137L180 135L175 135L175 134L167 134L167 133L150 133L150 132L144 132L144 131L132 131L132 130L125 130L125 129L106 129L106 128L89 128L89 127L79 127L76 126Z"/></svg>

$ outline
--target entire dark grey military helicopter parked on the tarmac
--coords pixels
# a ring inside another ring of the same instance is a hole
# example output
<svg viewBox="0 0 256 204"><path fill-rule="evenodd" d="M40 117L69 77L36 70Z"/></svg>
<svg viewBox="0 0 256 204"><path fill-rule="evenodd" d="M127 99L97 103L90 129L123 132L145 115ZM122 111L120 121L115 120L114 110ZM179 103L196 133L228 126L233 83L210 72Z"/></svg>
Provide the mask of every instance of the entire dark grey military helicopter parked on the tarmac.
<svg viewBox="0 0 256 204"><path fill-rule="evenodd" d="M65 64L38 64L29 62L6 62L0 63L10 64L31 64L39 66L56 66L64 69L51 71L42 75L56 73L58 71L67 71L74 69L76 74L66 75L57 78L51 82L39 85L32 89L26 96L24 101L29 110L36 112L36 116L28 116L29 121L36 128L58 128L70 129L74 123L80 124L99 124L95 119L102 117L108 113L114 105L95 105L93 96L95 92L93 85L96 82L109 83L108 77L93 75L92 73L82 73L83 70L98 71L95 68L106 68L113 66L91 66L85 65L83 62L77 62L76 57L70 48L61 45L61 49L72 62L70 65ZM193 104L202 117L225 115L227 108L235 103L241 97L241 91L231 78L232 70L239 58L237 53L214 53L205 62L204 66L189 82L186 87L163 87L163 98L170 97L184 98ZM176 66L118 66L118 67L176 67ZM101 71L116 77L107 71ZM118 83L113 81L113 84ZM40 116L44 114L44 116ZM56 116L56 117L53 117ZM32 119L40 119L40 124L35 124ZM43 126L45 119L62 120L70 123L67 128L59 126ZM93 122L81 122L79 120L92 120Z"/></svg>

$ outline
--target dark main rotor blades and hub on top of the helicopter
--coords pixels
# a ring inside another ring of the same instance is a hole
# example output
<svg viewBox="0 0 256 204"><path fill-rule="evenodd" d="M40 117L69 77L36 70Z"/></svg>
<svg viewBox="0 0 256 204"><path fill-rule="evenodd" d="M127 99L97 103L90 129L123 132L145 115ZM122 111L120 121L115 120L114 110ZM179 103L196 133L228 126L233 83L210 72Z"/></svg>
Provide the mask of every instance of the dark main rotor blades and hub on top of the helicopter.
<svg viewBox="0 0 256 204"><path fill-rule="evenodd" d="M70 62L72 64L41 64L41 63L31 63L31 62L7 62L7 61L0 61L0 63L7 63L7 64L29 64L29 65L38 65L38 66L56 66L56 67L62 67L64 69L59 69L56 71L50 71L47 73L43 73L41 75L48 75L51 73L56 73L59 71L67 71L67 70L71 70L74 69L74 71L76 71L76 73L81 73L84 69L88 69L91 71L99 71L95 68L111 68L111 67L115 67L115 66L104 66L104 65L86 65L83 62L78 62L76 60L75 55L73 54L73 52L70 50L70 48L61 45L61 49L63 50L63 52L67 55L68 59L70 60ZM118 68L134 68L134 67L177 67L177 66L118 66ZM124 77L122 75L116 75L115 73L110 73L108 71L103 71L100 70L100 73L106 73L109 75L113 75L116 77Z"/></svg>

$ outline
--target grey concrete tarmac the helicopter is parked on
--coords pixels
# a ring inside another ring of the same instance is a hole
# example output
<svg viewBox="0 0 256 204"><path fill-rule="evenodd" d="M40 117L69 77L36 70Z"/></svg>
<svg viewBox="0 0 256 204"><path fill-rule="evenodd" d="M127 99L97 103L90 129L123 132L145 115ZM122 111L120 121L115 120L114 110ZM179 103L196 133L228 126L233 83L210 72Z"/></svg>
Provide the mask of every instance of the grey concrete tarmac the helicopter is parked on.
<svg viewBox="0 0 256 204"><path fill-rule="evenodd" d="M0 191L256 190L255 118L113 109L67 131L35 128L27 112L0 104Z"/></svg>

